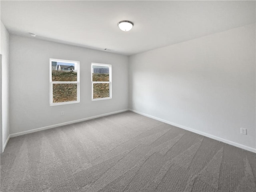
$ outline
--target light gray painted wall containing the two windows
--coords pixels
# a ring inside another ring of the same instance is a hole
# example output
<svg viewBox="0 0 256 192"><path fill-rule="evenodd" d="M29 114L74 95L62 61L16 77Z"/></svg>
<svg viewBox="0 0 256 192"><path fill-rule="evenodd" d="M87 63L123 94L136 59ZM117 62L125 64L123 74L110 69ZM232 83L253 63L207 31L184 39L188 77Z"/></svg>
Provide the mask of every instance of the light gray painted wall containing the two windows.
<svg viewBox="0 0 256 192"><path fill-rule="evenodd" d="M80 61L80 103L50 106L50 58ZM112 64L112 99L92 101L92 62ZM126 109L127 56L10 35L10 134Z"/></svg>

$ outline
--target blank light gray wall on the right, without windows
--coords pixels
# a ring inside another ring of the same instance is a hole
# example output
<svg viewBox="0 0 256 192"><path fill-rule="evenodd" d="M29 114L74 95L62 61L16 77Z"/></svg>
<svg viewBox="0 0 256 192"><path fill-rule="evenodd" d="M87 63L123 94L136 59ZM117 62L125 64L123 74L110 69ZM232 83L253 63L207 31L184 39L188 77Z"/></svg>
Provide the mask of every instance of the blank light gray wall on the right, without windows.
<svg viewBox="0 0 256 192"><path fill-rule="evenodd" d="M252 24L130 56L130 108L255 149L255 35Z"/></svg>

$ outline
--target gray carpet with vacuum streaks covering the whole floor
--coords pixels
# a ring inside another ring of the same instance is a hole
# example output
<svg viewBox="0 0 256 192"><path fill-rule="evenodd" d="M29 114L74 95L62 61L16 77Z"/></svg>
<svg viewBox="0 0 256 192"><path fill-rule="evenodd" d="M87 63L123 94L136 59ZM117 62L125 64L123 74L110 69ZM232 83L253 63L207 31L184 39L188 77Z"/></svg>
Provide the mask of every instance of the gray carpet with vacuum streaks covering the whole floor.
<svg viewBox="0 0 256 192"><path fill-rule="evenodd" d="M256 154L124 112L10 138L3 192L255 192Z"/></svg>

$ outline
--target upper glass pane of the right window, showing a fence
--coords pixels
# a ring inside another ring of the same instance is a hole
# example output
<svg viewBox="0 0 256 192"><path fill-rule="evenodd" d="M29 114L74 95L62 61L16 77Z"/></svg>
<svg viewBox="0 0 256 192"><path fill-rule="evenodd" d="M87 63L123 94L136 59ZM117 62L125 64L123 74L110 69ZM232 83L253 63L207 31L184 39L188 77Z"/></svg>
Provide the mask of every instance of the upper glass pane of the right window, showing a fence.
<svg viewBox="0 0 256 192"><path fill-rule="evenodd" d="M92 81L109 81L109 67L92 65Z"/></svg>

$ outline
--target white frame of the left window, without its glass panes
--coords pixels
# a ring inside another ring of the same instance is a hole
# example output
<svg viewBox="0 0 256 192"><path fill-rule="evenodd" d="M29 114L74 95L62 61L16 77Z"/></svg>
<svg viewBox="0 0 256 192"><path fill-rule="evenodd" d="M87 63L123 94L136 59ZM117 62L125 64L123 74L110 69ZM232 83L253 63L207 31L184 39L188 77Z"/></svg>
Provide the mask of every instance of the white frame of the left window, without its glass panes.
<svg viewBox="0 0 256 192"><path fill-rule="evenodd" d="M52 61L54 62L62 62L62 63L74 63L77 64L77 81L52 81ZM68 101L68 102L59 102L54 103L52 98L52 87L53 84L77 84L77 100L76 101ZM50 106L55 105L64 105L64 104L72 104L80 102L80 62L79 61L70 61L70 60L62 60L62 59L51 59L50 58Z"/></svg>

